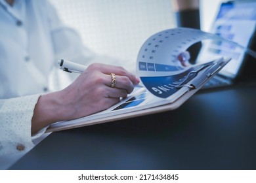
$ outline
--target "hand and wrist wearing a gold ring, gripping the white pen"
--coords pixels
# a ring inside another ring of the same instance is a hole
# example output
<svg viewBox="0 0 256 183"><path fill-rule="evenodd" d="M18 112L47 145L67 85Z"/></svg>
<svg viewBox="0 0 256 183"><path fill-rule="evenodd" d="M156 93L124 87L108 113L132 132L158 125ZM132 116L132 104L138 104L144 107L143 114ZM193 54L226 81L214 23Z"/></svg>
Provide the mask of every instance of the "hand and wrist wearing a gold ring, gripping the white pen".
<svg viewBox="0 0 256 183"><path fill-rule="evenodd" d="M64 90L39 97L32 133L54 122L105 110L119 102L120 97L127 97L138 83L139 79L123 67L93 63Z"/></svg>

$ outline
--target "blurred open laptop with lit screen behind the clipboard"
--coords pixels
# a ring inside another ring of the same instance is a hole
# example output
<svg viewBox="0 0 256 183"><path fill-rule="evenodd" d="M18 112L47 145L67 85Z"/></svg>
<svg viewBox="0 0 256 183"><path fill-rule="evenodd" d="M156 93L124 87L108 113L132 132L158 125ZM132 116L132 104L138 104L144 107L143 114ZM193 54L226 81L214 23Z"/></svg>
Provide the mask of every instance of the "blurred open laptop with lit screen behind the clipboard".
<svg viewBox="0 0 256 183"><path fill-rule="evenodd" d="M238 42L245 48L249 47L251 50L255 50L255 27L256 1L228 1L221 4L213 22L211 33ZM247 74L246 69L250 67L249 62L252 62L254 66L256 65L255 58L248 58L244 50L238 50L238 48L223 41L202 42L196 63L220 56L227 56L232 60L203 88L230 86L238 80L242 80L241 77ZM248 59L254 60L249 61ZM253 75L255 73L254 71Z"/></svg>

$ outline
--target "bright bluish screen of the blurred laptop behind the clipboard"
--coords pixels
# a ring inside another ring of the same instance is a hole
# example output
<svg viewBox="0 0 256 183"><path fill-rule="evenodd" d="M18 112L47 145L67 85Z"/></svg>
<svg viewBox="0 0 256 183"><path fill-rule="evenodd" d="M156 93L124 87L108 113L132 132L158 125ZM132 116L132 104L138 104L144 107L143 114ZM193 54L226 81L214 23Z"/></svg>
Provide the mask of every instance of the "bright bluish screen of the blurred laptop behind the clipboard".
<svg viewBox="0 0 256 183"><path fill-rule="evenodd" d="M229 1L222 3L211 33L238 42L245 48L255 32L256 1ZM244 51L223 41L203 42L197 62L226 56L232 58L221 74L235 78L244 59Z"/></svg>

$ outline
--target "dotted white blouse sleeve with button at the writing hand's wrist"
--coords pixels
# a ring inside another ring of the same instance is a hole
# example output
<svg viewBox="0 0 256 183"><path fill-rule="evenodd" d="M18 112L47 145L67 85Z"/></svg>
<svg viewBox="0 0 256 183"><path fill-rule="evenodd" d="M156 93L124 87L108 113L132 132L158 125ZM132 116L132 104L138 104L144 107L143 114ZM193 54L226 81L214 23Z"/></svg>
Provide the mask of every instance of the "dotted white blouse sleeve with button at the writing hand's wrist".
<svg viewBox="0 0 256 183"><path fill-rule="evenodd" d="M33 148L31 122L39 96L0 100L0 156L28 152Z"/></svg>

